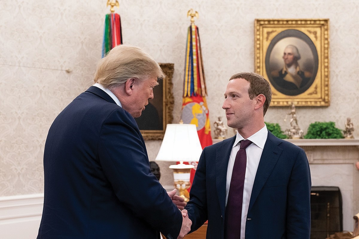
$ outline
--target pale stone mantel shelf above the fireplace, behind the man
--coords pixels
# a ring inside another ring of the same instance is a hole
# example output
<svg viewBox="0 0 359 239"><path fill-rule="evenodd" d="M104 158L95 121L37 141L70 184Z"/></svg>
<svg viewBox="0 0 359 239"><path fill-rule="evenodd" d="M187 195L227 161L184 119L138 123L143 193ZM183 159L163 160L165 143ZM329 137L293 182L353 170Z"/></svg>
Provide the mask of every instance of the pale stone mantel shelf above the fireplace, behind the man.
<svg viewBox="0 0 359 239"><path fill-rule="evenodd" d="M213 139L218 143L223 139ZM359 146L359 139L285 139L297 146Z"/></svg>

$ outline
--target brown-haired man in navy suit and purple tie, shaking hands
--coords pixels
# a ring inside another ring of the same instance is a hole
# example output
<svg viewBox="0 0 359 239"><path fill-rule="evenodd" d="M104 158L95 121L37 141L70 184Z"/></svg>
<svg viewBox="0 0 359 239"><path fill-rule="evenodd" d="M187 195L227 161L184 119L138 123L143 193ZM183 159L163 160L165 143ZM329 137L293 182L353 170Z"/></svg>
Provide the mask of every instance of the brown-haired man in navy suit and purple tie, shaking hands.
<svg viewBox="0 0 359 239"><path fill-rule="evenodd" d="M271 88L256 73L230 77L227 124L237 135L204 148L185 209L207 239L309 239L311 177L304 150L271 134Z"/></svg>

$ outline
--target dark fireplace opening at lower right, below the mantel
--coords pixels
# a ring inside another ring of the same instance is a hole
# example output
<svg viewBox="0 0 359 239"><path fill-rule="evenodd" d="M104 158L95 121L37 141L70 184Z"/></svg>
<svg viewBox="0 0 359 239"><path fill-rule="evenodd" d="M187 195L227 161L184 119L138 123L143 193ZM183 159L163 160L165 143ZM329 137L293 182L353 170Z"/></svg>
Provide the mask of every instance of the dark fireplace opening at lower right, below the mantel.
<svg viewBox="0 0 359 239"><path fill-rule="evenodd" d="M311 239L324 239L343 230L342 199L339 187L311 189Z"/></svg>

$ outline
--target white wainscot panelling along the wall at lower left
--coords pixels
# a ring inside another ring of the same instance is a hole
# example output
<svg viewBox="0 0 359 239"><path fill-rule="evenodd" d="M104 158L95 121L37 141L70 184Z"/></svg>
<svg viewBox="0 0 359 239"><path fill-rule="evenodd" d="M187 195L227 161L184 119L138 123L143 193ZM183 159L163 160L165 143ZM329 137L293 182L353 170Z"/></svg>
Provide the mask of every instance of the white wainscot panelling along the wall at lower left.
<svg viewBox="0 0 359 239"><path fill-rule="evenodd" d="M0 197L3 239L35 239L42 215L43 193Z"/></svg>

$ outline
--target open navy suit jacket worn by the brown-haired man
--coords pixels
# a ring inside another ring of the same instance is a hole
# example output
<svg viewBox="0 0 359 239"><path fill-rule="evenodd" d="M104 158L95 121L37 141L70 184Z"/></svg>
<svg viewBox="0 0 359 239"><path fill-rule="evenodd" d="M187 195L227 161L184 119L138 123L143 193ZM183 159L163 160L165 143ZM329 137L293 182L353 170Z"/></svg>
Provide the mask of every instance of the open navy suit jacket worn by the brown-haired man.
<svg viewBox="0 0 359 239"><path fill-rule="evenodd" d="M204 148L197 166L186 209L191 231L208 220L207 239L224 238L227 167L235 139ZM310 191L304 150L268 132L248 207L246 239L309 239Z"/></svg>

